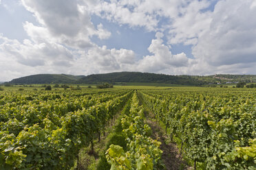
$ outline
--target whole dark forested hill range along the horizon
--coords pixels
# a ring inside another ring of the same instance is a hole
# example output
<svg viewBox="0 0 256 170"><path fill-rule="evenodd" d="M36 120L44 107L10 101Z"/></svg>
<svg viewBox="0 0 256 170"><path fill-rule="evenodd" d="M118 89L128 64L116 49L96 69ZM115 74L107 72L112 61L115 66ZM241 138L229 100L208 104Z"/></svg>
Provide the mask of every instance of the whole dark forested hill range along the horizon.
<svg viewBox="0 0 256 170"><path fill-rule="evenodd" d="M256 75L164 75L140 72L118 72L93 75L39 74L20 77L10 84L92 84L101 82L138 82L202 85L235 82L256 82Z"/></svg>

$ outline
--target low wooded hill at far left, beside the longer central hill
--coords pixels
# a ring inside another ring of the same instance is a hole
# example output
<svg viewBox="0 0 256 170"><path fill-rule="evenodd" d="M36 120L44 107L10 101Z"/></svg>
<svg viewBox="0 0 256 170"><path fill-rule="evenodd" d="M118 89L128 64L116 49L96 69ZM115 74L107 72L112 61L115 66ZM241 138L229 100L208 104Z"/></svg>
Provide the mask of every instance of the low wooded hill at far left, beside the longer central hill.
<svg viewBox="0 0 256 170"><path fill-rule="evenodd" d="M84 75L65 75L65 74L38 74L20 77L10 81L10 84L65 84L75 83L85 77Z"/></svg>

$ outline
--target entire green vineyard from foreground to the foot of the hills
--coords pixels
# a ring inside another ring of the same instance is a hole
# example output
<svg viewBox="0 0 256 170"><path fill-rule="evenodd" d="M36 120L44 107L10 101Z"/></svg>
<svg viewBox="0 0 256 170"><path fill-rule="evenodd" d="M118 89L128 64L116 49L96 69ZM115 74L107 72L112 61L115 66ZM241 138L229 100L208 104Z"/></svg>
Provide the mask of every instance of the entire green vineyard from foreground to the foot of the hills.
<svg viewBox="0 0 256 170"><path fill-rule="evenodd" d="M115 128L95 169L168 169L149 114L191 169L256 169L256 90L136 89L1 92L0 169L83 169Z"/></svg>

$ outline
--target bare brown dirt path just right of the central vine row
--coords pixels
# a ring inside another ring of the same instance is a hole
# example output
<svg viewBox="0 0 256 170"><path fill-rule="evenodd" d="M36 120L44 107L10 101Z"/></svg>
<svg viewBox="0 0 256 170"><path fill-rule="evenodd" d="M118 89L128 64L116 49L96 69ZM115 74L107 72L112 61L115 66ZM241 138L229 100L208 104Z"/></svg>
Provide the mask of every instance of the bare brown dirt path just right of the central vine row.
<svg viewBox="0 0 256 170"><path fill-rule="evenodd" d="M160 149L162 149L162 161L167 170L181 170L181 169L191 169L182 158L179 157L179 151L175 143L166 143L167 134L164 130L156 123L152 121L153 114L149 113L147 117L147 124L152 129L152 138L158 139L162 144Z"/></svg>

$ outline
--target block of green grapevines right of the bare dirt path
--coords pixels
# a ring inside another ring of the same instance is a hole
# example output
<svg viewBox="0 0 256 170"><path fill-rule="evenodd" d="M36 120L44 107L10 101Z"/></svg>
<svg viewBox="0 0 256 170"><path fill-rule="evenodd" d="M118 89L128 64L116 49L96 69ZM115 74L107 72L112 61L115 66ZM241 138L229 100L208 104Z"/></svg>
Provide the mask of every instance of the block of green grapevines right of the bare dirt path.
<svg viewBox="0 0 256 170"><path fill-rule="evenodd" d="M158 121L206 169L256 169L255 93L140 92Z"/></svg>

